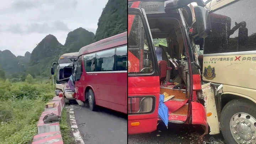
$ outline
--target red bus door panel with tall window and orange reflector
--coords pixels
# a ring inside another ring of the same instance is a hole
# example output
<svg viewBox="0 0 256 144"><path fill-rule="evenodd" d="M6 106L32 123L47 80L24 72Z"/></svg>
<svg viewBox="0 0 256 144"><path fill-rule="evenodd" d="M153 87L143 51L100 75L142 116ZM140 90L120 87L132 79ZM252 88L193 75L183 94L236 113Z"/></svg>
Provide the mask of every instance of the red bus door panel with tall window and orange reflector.
<svg viewBox="0 0 256 144"><path fill-rule="evenodd" d="M160 93L157 65L144 9L128 8L128 134L156 130Z"/></svg>

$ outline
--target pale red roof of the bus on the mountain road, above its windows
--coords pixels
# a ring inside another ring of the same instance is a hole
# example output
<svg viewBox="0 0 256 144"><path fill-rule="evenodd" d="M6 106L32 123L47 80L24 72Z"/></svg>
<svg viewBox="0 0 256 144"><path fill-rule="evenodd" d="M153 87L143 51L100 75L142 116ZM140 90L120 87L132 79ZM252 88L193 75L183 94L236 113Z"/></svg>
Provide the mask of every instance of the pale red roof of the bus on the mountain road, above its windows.
<svg viewBox="0 0 256 144"><path fill-rule="evenodd" d="M127 32L123 32L84 46L79 50L78 55L80 56L87 53L97 52L99 50L122 46L124 44L127 44Z"/></svg>

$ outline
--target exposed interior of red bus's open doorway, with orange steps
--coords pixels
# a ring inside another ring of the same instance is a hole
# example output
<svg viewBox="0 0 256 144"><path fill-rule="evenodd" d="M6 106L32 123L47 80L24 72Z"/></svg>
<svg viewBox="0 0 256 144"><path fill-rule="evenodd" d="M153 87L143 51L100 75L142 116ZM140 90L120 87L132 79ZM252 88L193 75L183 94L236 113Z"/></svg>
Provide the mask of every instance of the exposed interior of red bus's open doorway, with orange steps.
<svg viewBox="0 0 256 144"><path fill-rule="evenodd" d="M191 25L190 8L182 8L182 12L186 24ZM158 62L163 60L167 63L166 77L160 78L160 94L165 96L164 103L169 109L169 122L185 122L188 114L188 65L180 14L177 11L171 14L148 14L147 18Z"/></svg>

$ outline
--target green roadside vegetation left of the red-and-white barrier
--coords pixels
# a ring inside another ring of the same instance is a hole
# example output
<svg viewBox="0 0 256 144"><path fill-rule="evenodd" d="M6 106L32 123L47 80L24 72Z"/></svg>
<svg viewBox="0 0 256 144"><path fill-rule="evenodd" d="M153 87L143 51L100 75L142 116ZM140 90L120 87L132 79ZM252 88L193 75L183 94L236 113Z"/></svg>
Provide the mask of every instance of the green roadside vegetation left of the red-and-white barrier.
<svg viewBox="0 0 256 144"><path fill-rule="evenodd" d="M34 79L30 74L20 82L0 79L1 144L30 143L44 105L53 96L50 80Z"/></svg>

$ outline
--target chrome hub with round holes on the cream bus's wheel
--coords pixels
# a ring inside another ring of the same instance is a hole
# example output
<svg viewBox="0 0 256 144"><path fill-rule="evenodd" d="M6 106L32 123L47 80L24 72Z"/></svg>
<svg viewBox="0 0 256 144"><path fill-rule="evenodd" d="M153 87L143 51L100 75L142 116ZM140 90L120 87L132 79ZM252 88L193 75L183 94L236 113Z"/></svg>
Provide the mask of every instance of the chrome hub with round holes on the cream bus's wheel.
<svg viewBox="0 0 256 144"><path fill-rule="evenodd" d="M238 144L256 143L256 119L247 113L236 113L230 120L230 130Z"/></svg>

